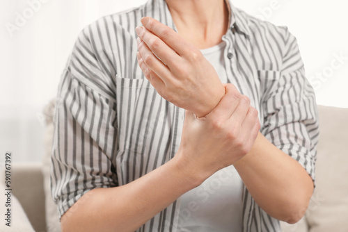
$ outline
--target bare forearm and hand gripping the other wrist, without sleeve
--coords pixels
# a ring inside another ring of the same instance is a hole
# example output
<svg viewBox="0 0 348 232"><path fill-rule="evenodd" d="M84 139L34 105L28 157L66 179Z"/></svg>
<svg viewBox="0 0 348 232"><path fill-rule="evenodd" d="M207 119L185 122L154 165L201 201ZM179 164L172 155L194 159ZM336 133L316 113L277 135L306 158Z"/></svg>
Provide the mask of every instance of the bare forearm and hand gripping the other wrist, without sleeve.
<svg viewBox="0 0 348 232"><path fill-rule="evenodd" d="M247 99L227 85L226 95L204 119L186 112L182 142L173 159L127 185L90 190L63 215L63 231L138 229L184 192L245 156L260 129L257 115ZM236 140L239 137L248 139ZM225 151L230 152L221 156Z"/></svg>

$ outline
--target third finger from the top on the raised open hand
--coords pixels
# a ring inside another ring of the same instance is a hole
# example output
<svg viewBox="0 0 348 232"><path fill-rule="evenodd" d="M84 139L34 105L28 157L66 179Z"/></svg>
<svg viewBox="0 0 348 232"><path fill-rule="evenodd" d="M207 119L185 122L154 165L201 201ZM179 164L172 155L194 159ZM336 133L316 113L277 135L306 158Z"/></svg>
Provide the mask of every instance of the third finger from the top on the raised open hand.
<svg viewBox="0 0 348 232"><path fill-rule="evenodd" d="M155 72L159 78L171 76L171 71L168 69L166 65L164 65L161 60L159 60L154 53L148 48L148 46L141 41L140 38L136 39L138 42L138 49L143 62L146 67L148 67L152 72ZM161 78L163 82L165 82L164 78Z"/></svg>

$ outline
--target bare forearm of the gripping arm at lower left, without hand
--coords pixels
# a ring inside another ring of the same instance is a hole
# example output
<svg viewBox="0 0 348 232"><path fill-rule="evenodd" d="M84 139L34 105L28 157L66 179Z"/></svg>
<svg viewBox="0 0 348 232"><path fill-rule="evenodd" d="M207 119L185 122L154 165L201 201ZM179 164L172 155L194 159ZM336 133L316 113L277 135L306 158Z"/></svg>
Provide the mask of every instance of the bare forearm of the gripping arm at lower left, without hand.
<svg viewBox="0 0 348 232"><path fill-rule="evenodd" d="M63 215L63 231L135 231L203 182L178 157L127 185L90 190Z"/></svg>

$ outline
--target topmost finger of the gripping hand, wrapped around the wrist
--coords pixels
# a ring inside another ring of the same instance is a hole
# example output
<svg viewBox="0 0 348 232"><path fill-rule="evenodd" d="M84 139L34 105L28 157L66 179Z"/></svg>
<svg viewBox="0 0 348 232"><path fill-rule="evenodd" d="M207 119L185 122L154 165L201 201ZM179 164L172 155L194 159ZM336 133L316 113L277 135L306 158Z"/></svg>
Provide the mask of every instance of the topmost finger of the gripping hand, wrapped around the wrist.
<svg viewBox="0 0 348 232"><path fill-rule="evenodd" d="M235 85L226 85L226 94L223 96L219 104L212 110L209 115L219 117L221 119L229 119L239 104L239 94Z"/></svg>

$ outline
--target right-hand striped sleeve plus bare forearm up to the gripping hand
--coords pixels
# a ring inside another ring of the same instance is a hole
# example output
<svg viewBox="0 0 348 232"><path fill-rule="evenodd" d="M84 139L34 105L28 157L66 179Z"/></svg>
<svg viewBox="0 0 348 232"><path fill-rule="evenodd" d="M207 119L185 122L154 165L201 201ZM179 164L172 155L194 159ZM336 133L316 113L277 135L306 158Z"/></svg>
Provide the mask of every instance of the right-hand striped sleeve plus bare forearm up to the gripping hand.
<svg viewBox="0 0 348 232"><path fill-rule="evenodd" d="M261 208L294 223L306 213L313 194L319 130L315 94L304 74L296 38L286 29L284 37L282 69L263 96L262 134L235 167Z"/></svg>

